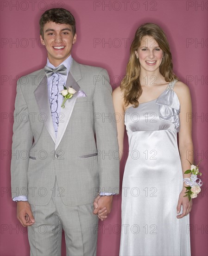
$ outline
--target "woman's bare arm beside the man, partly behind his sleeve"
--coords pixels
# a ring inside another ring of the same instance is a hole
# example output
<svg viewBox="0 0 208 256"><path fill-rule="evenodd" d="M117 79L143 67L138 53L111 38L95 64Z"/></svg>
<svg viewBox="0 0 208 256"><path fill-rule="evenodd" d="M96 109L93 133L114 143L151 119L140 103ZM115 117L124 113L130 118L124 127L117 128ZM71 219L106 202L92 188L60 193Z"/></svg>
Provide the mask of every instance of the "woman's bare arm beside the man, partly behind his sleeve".
<svg viewBox="0 0 208 256"><path fill-rule="evenodd" d="M125 131L125 125L124 125L124 100L123 100L123 94L120 90L120 87L117 87L113 91L113 105L115 109L115 118L117 125L117 131L118 131L118 143L119 143L119 152L120 152L120 160L123 155L123 144L124 144L124 131Z"/></svg>

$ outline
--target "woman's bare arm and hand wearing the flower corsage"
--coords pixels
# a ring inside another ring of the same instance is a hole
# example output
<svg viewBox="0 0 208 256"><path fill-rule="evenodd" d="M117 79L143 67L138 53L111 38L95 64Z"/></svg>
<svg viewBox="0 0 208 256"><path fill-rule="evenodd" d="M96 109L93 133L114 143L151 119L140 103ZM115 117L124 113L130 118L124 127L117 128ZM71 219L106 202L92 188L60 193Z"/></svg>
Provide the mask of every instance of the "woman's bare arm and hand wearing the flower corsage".
<svg viewBox="0 0 208 256"><path fill-rule="evenodd" d="M183 82L177 82L175 92L179 98L181 111L180 111L180 131L178 133L179 138L179 152L181 156L181 164L183 171L183 178L190 177L190 174L184 174L184 172L190 169L190 163L194 163L193 154L193 141L192 141L192 119L188 118L189 114L192 113L191 96L187 85ZM189 161L188 161L189 160ZM192 207L192 200L189 202L189 198L185 195L187 186L183 182L183 189L179 195L177 213L180 212L181 205L183 205L183 214L177 216L182 218L189 214Z"/></svg>

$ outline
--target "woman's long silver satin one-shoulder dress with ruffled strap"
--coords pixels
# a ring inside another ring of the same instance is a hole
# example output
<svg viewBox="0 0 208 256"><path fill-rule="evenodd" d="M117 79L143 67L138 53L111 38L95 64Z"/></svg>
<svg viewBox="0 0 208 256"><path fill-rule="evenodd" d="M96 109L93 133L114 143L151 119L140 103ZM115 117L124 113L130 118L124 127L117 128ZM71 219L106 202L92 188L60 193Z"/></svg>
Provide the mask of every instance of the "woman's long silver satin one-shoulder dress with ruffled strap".
<svg viewBox="0 0 208 256"><path fill-rule="evenodd" d="M176 218L183 173L175 83L157 99L125 112L129 155L122 184L120 256L190 256L189 215Z"/></svg>

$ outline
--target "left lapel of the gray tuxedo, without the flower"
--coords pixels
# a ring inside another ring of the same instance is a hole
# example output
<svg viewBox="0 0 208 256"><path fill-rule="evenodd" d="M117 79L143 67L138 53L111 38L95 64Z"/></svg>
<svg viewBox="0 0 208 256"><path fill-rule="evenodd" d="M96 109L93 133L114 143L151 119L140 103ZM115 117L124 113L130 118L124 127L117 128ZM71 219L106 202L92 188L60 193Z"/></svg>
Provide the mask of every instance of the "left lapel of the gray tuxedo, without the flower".
<svg viewBox="0 0 208 256"><path fill-rule="evenodd" d="M44 121L44 124L54 141L56 143L56 135L53 127L53 121L51 117L51 111L50 111L50 103L48 98L48 85L47 85L47 76L45 75L36 90L34 91L35 99L38 104L38 108L40 111L40 114L43 113L43 115L46 115L46 121Z"/></svg>

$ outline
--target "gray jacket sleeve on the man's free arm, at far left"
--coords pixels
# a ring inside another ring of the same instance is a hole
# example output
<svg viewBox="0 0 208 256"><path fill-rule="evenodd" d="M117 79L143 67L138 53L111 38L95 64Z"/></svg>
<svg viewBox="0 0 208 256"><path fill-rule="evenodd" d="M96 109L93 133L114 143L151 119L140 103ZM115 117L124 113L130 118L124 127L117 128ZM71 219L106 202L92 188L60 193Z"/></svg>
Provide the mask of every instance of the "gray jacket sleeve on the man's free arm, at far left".
<svg viewBox="0 0 208 256"><path fill-rule="evenodd" d="M19 195L27 196L27 169L33 139L27 103L20 81L21 78L17 82L13 124L11 162L12 198Z"/></svg>

